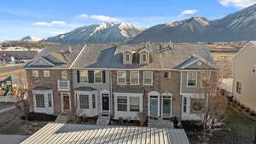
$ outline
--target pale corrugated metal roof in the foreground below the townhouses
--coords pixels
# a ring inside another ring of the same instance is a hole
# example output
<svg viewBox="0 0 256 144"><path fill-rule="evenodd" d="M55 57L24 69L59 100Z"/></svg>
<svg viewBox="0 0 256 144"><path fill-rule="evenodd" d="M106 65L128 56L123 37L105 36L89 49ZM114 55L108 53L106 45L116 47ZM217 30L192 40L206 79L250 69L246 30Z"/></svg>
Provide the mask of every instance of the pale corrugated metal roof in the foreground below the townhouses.
<svg viewBox="0 0 256 144"><path fill-rule="evenodd" d="M92 124L47 124L25 143L155 143L189 144L184 130Z"/></svg>

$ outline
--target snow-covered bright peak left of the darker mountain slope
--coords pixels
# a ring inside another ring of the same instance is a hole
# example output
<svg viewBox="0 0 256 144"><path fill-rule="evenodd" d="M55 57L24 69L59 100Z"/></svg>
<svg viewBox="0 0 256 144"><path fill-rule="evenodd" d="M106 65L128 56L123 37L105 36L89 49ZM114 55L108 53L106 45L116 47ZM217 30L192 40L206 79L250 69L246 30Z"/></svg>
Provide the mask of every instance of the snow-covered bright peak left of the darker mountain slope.
<svg viewBox="0 0 256 144"><path fill-rule="evenodd" d="M83 26L72 32L55 37L48 37L43 41L55 43L125 43L143 32L144 28L130 23L103 23L101 25Z"/></svg>

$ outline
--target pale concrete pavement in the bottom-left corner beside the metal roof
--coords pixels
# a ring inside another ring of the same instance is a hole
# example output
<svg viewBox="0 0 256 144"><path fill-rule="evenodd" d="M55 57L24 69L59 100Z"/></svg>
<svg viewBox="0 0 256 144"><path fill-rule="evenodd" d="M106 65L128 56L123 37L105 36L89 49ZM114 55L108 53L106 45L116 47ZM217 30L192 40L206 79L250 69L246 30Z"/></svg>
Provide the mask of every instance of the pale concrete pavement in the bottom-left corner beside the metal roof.
<svg viewBox="0 0 256 144"><path fill-rule="evenodd" d="M19 144L27 137L28 135L0 135L0 144Z"/></svg>

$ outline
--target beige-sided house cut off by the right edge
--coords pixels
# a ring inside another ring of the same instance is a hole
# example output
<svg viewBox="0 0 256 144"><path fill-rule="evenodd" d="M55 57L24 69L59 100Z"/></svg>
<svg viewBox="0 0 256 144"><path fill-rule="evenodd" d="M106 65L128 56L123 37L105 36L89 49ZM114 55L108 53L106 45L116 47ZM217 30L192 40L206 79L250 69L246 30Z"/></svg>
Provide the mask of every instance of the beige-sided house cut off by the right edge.
<svg viewBox="0 0 256 144"><path fill-rule="evenodd" d="M233 95L245 107L256 112L256 42L252 41L233 59Z"/></svg>

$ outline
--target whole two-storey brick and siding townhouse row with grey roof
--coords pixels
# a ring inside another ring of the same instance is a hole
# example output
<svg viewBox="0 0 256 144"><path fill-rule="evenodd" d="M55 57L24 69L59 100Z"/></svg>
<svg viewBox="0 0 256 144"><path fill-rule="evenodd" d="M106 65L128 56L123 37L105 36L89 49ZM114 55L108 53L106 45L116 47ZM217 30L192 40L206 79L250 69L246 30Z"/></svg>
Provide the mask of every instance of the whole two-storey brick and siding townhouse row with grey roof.
<svg viewBox="0 0 256 144"><path fill-rule="evenodd" d="M218 79L201 43L62 46L44 49L25 68L31 111L60 114L74 107L79 116L128 120L140 114L198 119L207 103L204 73Z"/></svg>

